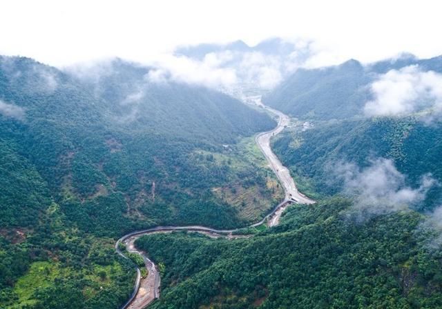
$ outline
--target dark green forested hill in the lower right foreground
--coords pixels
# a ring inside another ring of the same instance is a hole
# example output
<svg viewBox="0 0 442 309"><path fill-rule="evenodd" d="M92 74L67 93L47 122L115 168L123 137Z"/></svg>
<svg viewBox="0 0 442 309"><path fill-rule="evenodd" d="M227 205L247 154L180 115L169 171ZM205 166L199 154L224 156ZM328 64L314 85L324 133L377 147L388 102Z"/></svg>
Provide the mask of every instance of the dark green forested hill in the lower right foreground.
<svg viewBox="0 0 442 309"><path fill-rule="evenodd" d="M441 254L416 232L421 215L355 223L351 202L291 206L250 239L148 235L137 246L164 263L153 308L439 308ZM202 258L204 257L204 258Z"/></svg>

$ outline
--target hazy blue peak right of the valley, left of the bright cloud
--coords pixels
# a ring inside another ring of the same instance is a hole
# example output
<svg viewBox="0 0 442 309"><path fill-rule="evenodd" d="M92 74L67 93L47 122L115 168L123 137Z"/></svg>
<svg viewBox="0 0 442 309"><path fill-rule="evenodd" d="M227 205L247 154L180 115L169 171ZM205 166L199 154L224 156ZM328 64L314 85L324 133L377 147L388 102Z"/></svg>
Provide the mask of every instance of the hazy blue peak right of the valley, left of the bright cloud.
<svg viewBox="0 0 442 309"><path fill-rule="evenodd" d="M262 101L299 118L343 119L361 110L370 80L356 60L331 68L300 69Z"/></svg>

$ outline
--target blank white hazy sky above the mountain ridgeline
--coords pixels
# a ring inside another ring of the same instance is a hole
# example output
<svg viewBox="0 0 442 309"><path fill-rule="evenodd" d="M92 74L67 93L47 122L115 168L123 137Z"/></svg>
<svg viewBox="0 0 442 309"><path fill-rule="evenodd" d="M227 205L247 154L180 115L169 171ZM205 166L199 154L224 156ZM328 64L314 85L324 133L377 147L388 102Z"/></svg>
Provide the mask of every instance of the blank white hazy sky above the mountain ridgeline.
<svg viewBox="0 0 442 309"><path fill-rule="evenodd" d="M313 40L315 66L442 54L441 1L1 1L0 53L146 62L177 44Z"/></svg>

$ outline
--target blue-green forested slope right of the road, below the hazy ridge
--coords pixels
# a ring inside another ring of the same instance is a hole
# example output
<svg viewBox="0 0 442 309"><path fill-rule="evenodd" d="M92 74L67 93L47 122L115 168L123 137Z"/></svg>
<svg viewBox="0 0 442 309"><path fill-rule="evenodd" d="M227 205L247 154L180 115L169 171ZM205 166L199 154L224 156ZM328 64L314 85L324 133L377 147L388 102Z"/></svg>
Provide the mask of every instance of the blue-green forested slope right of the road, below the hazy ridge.
<svg viewBox="0 0 442 309"><path fill-rule="evenodd" d="M318 122L303 132L294 128L282 133L272 147L291 168L302 192L314 197L342 189L338 163L366 167L378 157L392 159L407 176L408 186L419 187L427 173L442 183L442 127L427 126L415 117ZM441 198L441 187L435 186L419 207L439 206Z"/></svg>

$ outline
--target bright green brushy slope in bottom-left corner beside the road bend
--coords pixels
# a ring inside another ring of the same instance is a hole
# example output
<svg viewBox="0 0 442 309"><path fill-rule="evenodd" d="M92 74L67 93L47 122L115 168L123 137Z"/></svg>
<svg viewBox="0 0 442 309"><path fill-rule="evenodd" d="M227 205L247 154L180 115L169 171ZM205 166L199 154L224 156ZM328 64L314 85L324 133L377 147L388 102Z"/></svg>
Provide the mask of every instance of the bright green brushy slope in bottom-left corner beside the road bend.
<svg viewBox="0 0 442 309"><path fill-rule="evenodd" d="M51 226L26 232L19 243L0 237L1 308L117 308L124 302L135 274L115 255L114 240Z"/></svg>

